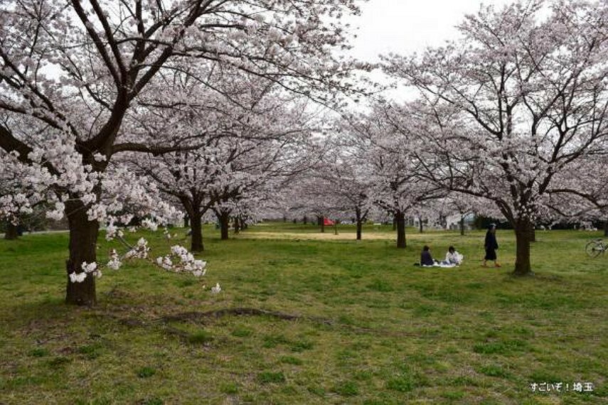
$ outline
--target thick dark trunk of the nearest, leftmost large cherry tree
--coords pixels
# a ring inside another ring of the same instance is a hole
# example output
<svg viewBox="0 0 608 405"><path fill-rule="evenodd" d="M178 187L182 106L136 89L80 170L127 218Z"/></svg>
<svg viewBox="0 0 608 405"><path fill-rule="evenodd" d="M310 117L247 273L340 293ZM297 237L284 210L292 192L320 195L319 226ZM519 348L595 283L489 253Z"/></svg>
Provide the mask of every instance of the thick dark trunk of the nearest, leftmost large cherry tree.
<svg viewBox="0 0 608 405"><path fill-rule="evenodd" d="M97 303L95 294L95 276L87 274L82 283L70 281L70 274L82 273L82 263L97 261L97 236L100 225L90 221L87 209L80 200L65 202L65 212L70 226L70 258L65 263L68 285L65 292L65 303L78 306L94 306Z"/></svg>

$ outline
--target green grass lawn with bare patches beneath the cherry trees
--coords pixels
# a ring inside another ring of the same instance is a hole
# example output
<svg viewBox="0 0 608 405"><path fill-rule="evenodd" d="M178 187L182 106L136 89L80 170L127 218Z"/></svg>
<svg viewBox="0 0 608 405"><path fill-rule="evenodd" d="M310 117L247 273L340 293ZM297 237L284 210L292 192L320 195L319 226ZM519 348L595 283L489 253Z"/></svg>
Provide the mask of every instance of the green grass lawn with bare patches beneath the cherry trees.
<svg viewBox="0 0 608 405"><path fill-rule="evenodd" d="M67 234L0 240L0 404L608 403L608 255L584 252L599 232L538 232L525 279L506 230L501 269L481 267L481 231L408 229L405 250L378 225L359 242L353 227L204 232L205 277L132 261L104 272L95 308L63 303ZM465 262L414 266L423 244ZM111 247L100 237L100 261Z"/></svg>

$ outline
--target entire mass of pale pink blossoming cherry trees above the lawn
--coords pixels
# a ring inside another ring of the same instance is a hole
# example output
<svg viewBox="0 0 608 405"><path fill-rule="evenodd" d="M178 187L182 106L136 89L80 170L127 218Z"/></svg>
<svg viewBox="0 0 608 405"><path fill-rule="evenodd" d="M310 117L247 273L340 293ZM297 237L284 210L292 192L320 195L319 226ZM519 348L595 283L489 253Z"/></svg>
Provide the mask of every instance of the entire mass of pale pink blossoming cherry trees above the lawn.
<svg viewBox="0 0 608 405"><path fill-rule="evenodd" d="M1 4L0 217L67 218L68 303L95 304L95 278L73 278L100 227L136 217L186 215L202 252L210 215L223 239L287 213L361 239L384 216L405 248L408 217L475 212L514 229L518 275L535 225L606 221L604 2L481 7L458 39L375 66L343 56L358 2Z"/></svg>

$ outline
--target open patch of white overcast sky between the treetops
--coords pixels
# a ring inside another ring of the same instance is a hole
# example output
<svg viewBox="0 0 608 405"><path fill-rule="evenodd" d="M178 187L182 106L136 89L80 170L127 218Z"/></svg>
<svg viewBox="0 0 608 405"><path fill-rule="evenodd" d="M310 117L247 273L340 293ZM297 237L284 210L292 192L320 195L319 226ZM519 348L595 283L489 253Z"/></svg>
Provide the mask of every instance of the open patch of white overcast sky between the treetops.
<svg viewBox="0 0 608 405"><path fill-rule="evenodd" d="M484 0L503 5L512 0ZM467 13L479 10L479 0L369 0L353 18L358 38L351 55L377 60L379 53L409 54L427 45L442 45L457 35L454 28Z"/></svg>

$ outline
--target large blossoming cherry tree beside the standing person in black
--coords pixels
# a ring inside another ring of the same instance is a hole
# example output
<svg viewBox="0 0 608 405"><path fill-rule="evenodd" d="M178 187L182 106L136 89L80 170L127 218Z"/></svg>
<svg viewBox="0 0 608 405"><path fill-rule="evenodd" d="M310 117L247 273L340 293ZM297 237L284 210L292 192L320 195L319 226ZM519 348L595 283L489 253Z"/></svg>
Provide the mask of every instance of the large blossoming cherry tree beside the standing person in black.
<svg viewBox="0 0 608 405"><path fill-rule="evenodd" d="M584 1L482 7L456 41L385 58L386 72L420 90L427 178L496 204L515 229L516 275L532 272L530 229L543 200L591 197L559 181L607 136L607 10Z"/></svg>

